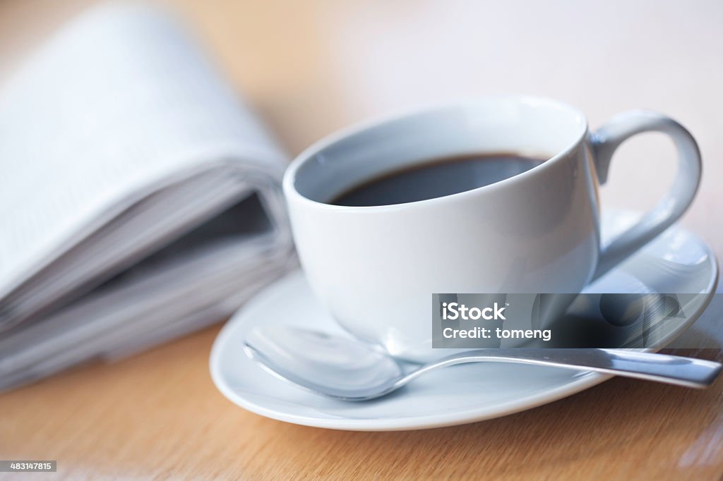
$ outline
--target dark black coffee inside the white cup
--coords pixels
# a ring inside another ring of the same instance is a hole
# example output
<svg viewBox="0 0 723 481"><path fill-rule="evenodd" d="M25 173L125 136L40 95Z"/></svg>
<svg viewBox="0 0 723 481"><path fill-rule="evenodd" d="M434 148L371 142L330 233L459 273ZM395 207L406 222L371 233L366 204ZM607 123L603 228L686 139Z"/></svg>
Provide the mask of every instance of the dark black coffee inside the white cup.
<svg viewBox="0 0 723 481"><path fill-rule="evenodd" d="M354 186L330 204L362 207L403 204L489 186L544 162L515 154L476 154L421 162Z"/></svg>

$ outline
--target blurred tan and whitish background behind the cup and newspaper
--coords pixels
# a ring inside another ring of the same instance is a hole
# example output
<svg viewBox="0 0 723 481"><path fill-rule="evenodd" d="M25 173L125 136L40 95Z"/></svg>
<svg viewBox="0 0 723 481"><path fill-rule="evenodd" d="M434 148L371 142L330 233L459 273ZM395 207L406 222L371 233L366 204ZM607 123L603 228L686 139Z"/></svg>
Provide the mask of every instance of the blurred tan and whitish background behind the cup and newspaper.
<svg viewBox="0 0 723 481"><path fill-rule="evenodd" d="M87 0L0 3L0 78ZM291 155L335 129L424 103L497 92L565 100L592 129L630 108L693 132L703 186L684 224L720 255L723 2L716 0L168 0ZM605 207L650 207L672 144L623 145Z"/></svg>

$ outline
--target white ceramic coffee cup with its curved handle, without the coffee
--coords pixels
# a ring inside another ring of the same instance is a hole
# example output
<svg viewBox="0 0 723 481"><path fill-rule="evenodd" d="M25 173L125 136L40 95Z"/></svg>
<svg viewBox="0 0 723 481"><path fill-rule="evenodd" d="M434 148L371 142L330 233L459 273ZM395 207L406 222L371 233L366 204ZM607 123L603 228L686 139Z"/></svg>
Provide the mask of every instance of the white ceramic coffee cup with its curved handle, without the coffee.
<svg viewBox="0 0 723 481"><path fill-rule="evenodd" d="M675 142L675 181L636 226L601 249L598 185L617 146L646 131ZM419 202L328 204L388 171L497 152L549 160ZM323 305L352 334L422 361L448 353L432 350L432 293L577 293L675 222L700 177L693 136L670 118L636 110L591 133L569 105L500 96L339 131L296 157L283 189L301 266Z"/></svg>

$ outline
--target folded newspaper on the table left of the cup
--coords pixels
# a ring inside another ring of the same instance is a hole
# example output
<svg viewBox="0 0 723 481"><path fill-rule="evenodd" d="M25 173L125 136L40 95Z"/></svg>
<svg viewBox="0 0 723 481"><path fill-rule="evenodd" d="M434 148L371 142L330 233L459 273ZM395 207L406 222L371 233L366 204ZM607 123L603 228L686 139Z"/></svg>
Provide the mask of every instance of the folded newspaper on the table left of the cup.
<svg viewBox="0 0 723 481"><path fill-rule="evenodd" d="M294 267L286 160L166 12L61 30L0 87L0 389L221 321Z"/></svg>

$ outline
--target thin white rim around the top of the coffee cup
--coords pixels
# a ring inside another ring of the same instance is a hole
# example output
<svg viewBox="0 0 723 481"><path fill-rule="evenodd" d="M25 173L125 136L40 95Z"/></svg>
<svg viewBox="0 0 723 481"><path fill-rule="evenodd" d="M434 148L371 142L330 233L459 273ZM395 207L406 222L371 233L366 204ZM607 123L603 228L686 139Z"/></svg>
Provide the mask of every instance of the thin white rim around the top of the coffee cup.
<svg viewBox="0 0 723 481"><path fill-rule="evenodd" d="M356 134L361 133L362 131L366 131L368 129L372 129L373 127L379 127L383 126L386 123L393 123L395 121L401 121L404 118L412 117L412 116L419 116L423 114L433 113L435 111L441 111L441 110L449 110L449 109L456 109L456 108L463 108L466 105L470 104L476 104L476 103L484 103L485 101L491 101L491 100L497 100L497 101L503 101L503 102L513 102L513 103L529 103L529 104L535 104L535 105L546 105L547 107L557 108L559 110L565 110L567 111L570 116L576 117L579 126L580 126L580 132L575 137L575 140L571 142L568 147L565 147L565 149L561 149L559 152L557 152L552 157L549 157L548 160L545 160L540 165L536 165L534 168L531 168L529 170L526 170L523 173L518 173L517 175L513 175L512 177L502 179L502 181L497 181L495 183L491 183L487 186L480 186L476 188L472 188L467 191L458 192L456 194L448 194L445 196L439 196L439 197L432 197L432 199L422 199L418 201L413 202L403 202L399 204L385 204L385 205L369 205L369 206L345 206L345 205L336 205L336 204L329 204L328 202L320 202L315 199L311 199L304 194L301 194L296 189L296 174L299 172L299 169L305 165L309 160L311 160L315 155L317 155L318 152L321 152L323 149L326 149L327 147L330 147L331 145L341 142L343 139L346 139L349 136L354 136ZM568 103L562 102L560 100L555 100L549 97L539 97L535 95L484 95L482 97L468 97L461 100L453 100L448 102L440 102L440 103L431 103L427 105L422 105L421 107L416 108L407 108L404 110L398 110L393 113L388 113L386 115L381 116L374 116L372 118L368 118L364 121L359 121L356 123L352 123L349 126L343 127L342 129L338 129L336 131L333 131L331 134L328 134L322 139L317 140L313 144L311 144L309 147L304 149L299 155L296 155L294 157L294 160L291 161L291 163L286 168L286 171L283 175L283 181L282 181L282 187L284 195L286 196L287 201L291 201L292 199L295 201L302 202L304 204L311 204L314 207L320 208L320 209L327 209L327 210L334 210L334 211L344 211L344 212L378 212L378 211L384 211L384 210L390 210L390 209L409 209L409 208L416 208L416 207L426 207L431 206L435 204L440 204L441 202L450 202L450 200L462 200L469 198L471 196L479 195L482 191L493 191L500 188L505 188L509 186L511 183L520 182L525 180L526 178L529 178L531 175L536 175L540 171L552 168L553 164L556 164L557 162L560 162L560 160L564 157L567 157L573 150L575 150L580 142L586 138L587 134L589 132L589 125L588 120L586 116L582 113L581 110L574 107L573 105L570 105Z"/></svg>

